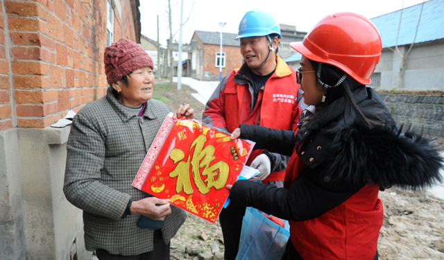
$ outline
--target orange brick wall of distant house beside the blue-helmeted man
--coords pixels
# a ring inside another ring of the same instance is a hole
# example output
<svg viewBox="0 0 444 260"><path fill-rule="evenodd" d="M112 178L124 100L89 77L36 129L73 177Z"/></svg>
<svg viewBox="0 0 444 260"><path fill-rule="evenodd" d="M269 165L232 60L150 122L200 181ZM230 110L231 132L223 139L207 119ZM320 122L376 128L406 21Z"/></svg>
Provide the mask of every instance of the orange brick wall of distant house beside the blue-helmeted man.
<svg viewBox="0 0 444 260"><path fill-rule="evenodd" d="M216 67L216 52L221 51L220 45L205 44L203 50L203 73L208 71L219 80L219 67ZM225 68L222 68L222 78L227 76L233 69L242 65L242 55L239 46L222 46L225 53Z"/></svg>

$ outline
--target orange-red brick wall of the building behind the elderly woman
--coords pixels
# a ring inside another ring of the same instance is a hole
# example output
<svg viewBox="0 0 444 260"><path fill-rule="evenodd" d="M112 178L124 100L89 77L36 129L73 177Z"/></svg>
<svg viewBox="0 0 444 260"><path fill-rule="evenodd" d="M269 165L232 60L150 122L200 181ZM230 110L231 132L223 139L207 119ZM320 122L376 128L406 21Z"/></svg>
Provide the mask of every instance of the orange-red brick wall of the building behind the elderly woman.
<svg viewBox="0 0 444 260"><path fill-rule="evenodd" d="M114 8L114 41L139 40L134 2ZM45 128L105 95L106 0L1 3L0 130Z"/></svg>

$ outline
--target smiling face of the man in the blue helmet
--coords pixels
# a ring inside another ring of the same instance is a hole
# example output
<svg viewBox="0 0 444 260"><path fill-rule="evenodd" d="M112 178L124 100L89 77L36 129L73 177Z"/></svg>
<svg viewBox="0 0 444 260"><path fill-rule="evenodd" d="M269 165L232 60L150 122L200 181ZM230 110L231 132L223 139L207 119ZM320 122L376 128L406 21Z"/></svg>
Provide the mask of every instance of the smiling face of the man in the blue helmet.
<svg viewBox="0 0 444 260"><path fill-rule="evenodd" d="M266 36L241 38L241 54L250 68L259 67L268 57L270 42Z"/></svg>

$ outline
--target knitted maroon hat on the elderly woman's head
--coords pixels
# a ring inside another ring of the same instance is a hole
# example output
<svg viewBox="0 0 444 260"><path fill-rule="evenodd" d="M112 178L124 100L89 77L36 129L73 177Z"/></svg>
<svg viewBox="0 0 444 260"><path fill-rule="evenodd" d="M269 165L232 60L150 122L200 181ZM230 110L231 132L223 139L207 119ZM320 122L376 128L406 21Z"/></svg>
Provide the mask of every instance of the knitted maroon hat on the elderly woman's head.
<svg viewBox="0 0 444 260"><path fill-rule="evenodd" d="M109 85L121 80L131 71L154 67L153 59L139 44L124 38L120 38L119 42L113 42L111 46L105 48L103 62Z"/></svg>

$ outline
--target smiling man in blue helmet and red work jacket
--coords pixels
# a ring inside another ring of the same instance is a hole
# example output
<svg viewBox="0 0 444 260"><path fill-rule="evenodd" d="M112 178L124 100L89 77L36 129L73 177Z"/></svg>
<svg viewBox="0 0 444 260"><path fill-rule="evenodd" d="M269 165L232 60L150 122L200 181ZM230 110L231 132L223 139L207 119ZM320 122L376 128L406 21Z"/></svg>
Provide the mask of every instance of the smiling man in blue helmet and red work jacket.
<svg viewBox="0 0 444 260"><path fill-rule="evenodd" d="M296 130L306 105L300 100L296 72L276 55L281 38L279 24L269 12L260 9L246 12L236 37L240 39L245 63L223 78L207 101L204 123L228 132L240 123ZM257 177L262 182L283 187L288 159L267 150L255 150L247 165L259 169ZM228 205L219 215L225 260L237 255L245 210Z"/></svg>

